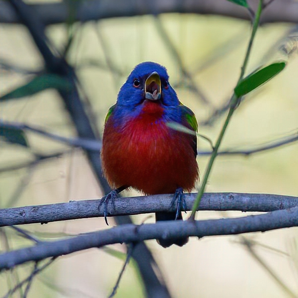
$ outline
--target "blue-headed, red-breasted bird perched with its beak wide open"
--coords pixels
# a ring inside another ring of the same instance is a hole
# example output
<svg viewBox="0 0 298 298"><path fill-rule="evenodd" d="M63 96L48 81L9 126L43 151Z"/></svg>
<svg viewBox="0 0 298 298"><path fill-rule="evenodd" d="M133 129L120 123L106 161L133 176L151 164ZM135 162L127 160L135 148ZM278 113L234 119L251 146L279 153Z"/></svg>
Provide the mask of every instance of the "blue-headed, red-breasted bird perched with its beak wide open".
<svg viewBox="0 0 298 298"><path fill-rule="evenodd" d="M194 133L178 131L169 123L178 123ZM177 202L176 212L158 212L155 219L182 220L184 191L190 192L199 178L197 130L195 114L179 101L165 67L154 62L137 65L105 119L102 168L114 189L104 197L105 205L109 198L130 187L145 195L173 193L171 204ZM183 246L187 241L181 237L157 239L163 247Z"/></svg>

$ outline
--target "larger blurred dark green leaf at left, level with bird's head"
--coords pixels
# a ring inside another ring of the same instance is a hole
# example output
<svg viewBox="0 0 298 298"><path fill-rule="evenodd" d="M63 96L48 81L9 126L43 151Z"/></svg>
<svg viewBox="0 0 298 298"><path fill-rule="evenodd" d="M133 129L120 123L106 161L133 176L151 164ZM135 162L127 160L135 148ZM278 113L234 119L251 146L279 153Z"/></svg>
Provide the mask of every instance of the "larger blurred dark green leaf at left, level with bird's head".
<svg viewBox="0 0 298 298"><path fill-rule="evenodd" d="M34 77L27 84L20 86L15 90L1 96L0 101L33 95L37 92L49 88L55 88L58 90L70 90L72 88L72 84L64 76L58 74L43 74Z"/></svg>

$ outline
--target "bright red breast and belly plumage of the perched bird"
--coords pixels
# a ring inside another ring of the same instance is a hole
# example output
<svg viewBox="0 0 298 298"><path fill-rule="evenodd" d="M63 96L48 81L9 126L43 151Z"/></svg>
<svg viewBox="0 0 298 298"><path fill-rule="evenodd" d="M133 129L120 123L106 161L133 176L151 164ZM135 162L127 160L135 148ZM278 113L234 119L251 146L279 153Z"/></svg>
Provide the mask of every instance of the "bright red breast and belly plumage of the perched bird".
<svg viewBox="0 0 298 298"><path fill-rule="evenodd" d="M192 137L168 128L163 109L146 104L143 113L117 132L109 119L101 152L104 175L112 187L132 186L145 194L190 191L198 179Z"/></svg>

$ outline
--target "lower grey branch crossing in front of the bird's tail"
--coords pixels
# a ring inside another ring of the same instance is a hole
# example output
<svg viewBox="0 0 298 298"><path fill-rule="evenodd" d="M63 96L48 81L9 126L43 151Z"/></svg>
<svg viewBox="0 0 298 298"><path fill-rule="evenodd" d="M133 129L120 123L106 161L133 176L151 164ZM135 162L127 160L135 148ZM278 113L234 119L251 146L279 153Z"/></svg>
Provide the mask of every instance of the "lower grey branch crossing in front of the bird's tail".
<svg viewBox="0 0 298 298"><path fill-rule="evenodd" d="M268 231L298 225L298 207L267 214L207 221L169 221L156 224L124 224L106 230L80 234L64 240L44 242L0 255L0 269L10 269L28 261L40 261L92 247L148 239L231 235Z"/></svg>

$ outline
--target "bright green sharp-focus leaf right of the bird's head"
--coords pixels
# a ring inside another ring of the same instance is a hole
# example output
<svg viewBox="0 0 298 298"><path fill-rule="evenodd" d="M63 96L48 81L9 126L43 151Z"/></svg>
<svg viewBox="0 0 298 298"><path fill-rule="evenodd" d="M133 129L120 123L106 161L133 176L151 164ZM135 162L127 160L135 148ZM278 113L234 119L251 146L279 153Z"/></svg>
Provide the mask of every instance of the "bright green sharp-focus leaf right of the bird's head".
<svg viewBox="0 0 298 298"><path fill-rule="evenodd" d="M286 67L286 62L277 62L268 65L255 73L249 74L244 77L235 87L234 92L237 97L243 96L248 92L256 89L264 84L275 75L279 74Z"/></svg>

